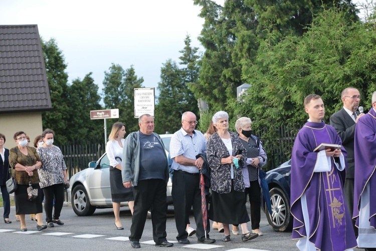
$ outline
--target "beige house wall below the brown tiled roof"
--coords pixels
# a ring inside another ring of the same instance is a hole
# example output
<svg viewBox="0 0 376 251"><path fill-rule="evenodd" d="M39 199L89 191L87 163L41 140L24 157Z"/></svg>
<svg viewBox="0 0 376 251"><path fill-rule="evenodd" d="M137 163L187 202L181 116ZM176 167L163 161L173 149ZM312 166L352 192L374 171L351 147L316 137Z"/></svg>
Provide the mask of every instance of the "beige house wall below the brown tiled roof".
<svg viewBox="0 0 376 251"><path fill-rule="evenodd" d="M13 135L23 131L30 137L30 146L33 146L35 137L41 135L42 128L42 112L14 112L0 114L0 133L4 134L7 141L5 148L14 148L17 144L13 139Z"/></svg>

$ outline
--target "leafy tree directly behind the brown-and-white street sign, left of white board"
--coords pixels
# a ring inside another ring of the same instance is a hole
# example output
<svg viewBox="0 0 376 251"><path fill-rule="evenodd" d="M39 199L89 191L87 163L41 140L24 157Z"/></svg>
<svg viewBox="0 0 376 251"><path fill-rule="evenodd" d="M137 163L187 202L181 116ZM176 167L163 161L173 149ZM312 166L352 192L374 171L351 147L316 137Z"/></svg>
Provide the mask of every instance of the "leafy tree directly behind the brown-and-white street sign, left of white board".
<svg viewBox="0 0 376 251"><path fill-rule="evenodd" d="M133 65L124 70L118 64L112 64L109 72L105 71L103 80L104 104L106 109L119 109L119 119L125 124L127 133L138 130L137 119L134 118L134 88L141 88L143 78L135 75ZM107 123L107 131L111 131L115 119L110 119Z"/></svg>

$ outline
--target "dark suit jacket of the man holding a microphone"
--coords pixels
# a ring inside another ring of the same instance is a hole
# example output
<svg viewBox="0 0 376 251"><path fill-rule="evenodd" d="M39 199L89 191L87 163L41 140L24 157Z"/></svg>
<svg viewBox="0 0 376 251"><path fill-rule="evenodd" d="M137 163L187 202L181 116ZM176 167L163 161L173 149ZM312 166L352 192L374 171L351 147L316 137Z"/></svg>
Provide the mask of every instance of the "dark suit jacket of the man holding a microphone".
<svg viewBox="0 0 376 251"><path fill-rule="evenodd" d="M356 114L359 114L356 111ZM346 179L353 179L354 178L354 133L355 133L355 126L356 123L352 120L351 116L345 111L345 109L341 109L335 112L333 115L330 116L330 126L332 126L339 138L341 138L342 145L347 151L347 172L346 172Z"/></svg>

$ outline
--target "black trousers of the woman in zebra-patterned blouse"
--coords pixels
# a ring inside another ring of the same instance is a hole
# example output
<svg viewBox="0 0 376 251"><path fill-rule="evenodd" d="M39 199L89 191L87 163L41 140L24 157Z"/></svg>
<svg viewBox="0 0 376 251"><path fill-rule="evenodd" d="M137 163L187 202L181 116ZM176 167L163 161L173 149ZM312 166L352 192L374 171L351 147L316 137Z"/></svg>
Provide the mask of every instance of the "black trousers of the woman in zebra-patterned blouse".
<svg viewBox="0 0 376 251"><path fill-rule="evenodd" d="M47 223L52 222L52 219L60 219L61 209L64 204L64 184L55 184L52 186L44 187L43 193L45 194L45 212ZM55 210L54 217L52 217L52 209L54 207L55 196Z"/></svg>

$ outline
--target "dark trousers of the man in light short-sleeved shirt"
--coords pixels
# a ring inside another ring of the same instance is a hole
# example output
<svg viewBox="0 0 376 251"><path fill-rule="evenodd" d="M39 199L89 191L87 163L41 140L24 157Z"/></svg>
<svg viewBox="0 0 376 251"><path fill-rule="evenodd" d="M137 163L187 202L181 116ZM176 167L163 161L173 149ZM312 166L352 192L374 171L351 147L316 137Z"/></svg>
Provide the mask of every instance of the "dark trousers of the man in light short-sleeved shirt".
<svg viewBox="0 0 376 251"><path fill-rule="evenodd" d="M172 201L175 212L175 224L177 230L176 239L185 239L188 233L185 231L189 222L191 207L196 221L196 236L199 240L205 239L203 214L201 210L200 175L192 175L181 171L174 171L172 178ZM207 220L207 237L209 237L210 222Z"/></svg>

